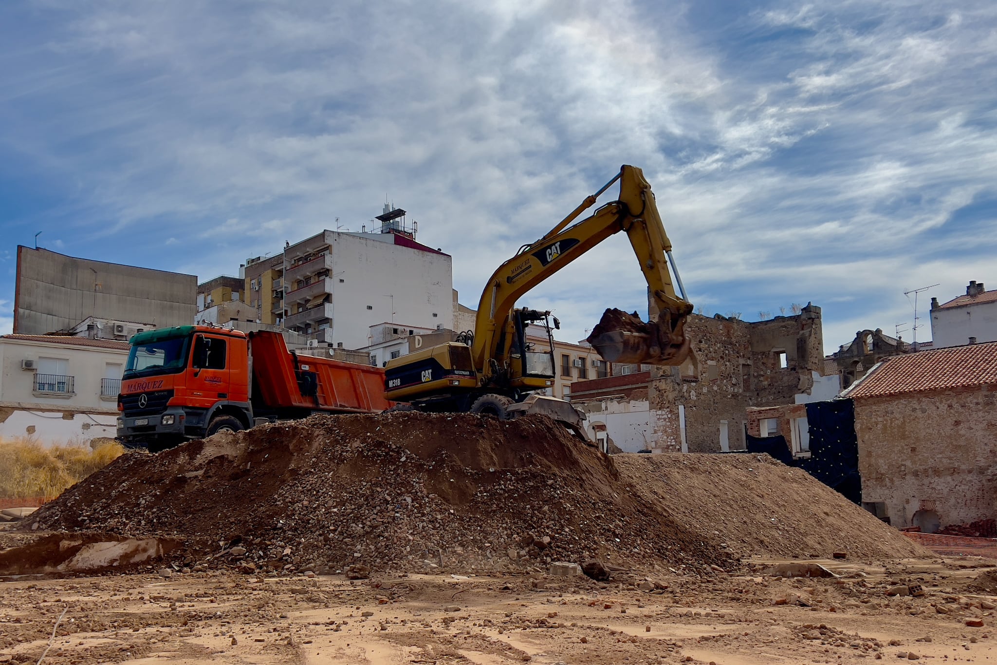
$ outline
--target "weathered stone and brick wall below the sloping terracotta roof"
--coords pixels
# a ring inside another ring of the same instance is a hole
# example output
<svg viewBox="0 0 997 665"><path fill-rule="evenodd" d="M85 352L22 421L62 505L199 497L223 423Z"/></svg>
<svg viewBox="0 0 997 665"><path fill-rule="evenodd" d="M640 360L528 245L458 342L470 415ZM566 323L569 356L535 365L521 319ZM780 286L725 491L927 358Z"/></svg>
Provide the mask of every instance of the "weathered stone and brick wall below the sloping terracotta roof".
<svg viewBox="0 0 997 665"><path fill-rule="evenodd" d="M994 385L856 399L862 502L899 527L997 518L995 407Z"/></svg>

